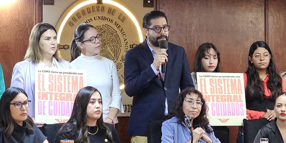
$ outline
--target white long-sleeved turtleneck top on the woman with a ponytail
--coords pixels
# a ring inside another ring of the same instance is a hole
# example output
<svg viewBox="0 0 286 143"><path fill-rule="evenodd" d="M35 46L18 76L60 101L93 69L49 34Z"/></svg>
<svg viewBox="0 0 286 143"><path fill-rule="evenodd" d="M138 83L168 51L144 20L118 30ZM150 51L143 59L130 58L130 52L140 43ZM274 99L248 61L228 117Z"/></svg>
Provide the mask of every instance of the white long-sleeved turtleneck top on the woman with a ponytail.
<svg viewBox="0 0 286 143"><path fill-rule="evenodd" d="M73 69L85 69L87 73L87 86L92 86L101 93L103 104L103 120L106 119L110 107L119 109L124 113L117 68L113 61L99 54L87 57L81 54L71 62ZM118 123L117 116L113 119Z"/></svg>

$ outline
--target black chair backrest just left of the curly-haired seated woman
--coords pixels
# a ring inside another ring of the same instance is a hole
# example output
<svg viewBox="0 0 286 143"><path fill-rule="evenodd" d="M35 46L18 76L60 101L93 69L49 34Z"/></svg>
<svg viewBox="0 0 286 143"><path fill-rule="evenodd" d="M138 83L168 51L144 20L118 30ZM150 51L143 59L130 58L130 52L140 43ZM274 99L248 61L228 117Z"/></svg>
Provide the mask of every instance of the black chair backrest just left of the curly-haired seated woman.
<svg viewBox="0 0 286 143"><path fill-rule="evenodd" d="M147 141L148 143L161 142L162 123L164 120L152 121L147 124Z"/></svg>

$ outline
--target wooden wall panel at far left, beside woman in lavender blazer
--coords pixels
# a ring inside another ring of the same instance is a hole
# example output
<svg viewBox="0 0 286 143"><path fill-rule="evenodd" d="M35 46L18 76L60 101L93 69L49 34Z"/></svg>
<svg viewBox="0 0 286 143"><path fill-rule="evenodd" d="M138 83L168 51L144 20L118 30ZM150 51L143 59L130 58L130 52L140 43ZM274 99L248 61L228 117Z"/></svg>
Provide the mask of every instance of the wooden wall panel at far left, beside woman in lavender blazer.
<svg viewBox="0 0 286 143"><path fill-rule="evenodd" d="M14 65L22 61L29 43L30 31L42 21L42 0L14 1L0 5L0 62L6 89L10 87Z"/></svg>

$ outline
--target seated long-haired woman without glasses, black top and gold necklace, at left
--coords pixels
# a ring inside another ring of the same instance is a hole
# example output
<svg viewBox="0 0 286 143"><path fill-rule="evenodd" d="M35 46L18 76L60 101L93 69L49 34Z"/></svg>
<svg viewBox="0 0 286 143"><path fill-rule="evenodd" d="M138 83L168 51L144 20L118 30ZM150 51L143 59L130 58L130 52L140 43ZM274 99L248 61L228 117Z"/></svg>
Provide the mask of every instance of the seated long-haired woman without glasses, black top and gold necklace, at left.
<svg viewBox="0 0 286 143"><path fill-rule="evenodd" d="M119 143L119 137L112 124L104 123L100 92L87 86L79 90L70 119L58 131L54 142L73 139L75 143Z"/></svg>

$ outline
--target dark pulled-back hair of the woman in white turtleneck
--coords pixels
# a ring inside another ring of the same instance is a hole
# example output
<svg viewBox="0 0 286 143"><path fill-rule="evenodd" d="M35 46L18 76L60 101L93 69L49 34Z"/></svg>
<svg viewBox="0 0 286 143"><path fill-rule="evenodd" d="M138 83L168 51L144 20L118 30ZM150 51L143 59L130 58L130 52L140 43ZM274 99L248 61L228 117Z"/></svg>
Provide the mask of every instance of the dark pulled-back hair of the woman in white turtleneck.
<svg viewBox="0 0 286 143"><path fill-rule="evenodd" d="M70 52L71 52L71 62L78 58L81 54L81 48L78 46L78 42L83 41L84 33L89 30L89 28L95 28L88 23L81 23L75 28L75 37L72 39ZM96 28L95 28L96 29Z"/></svg>

